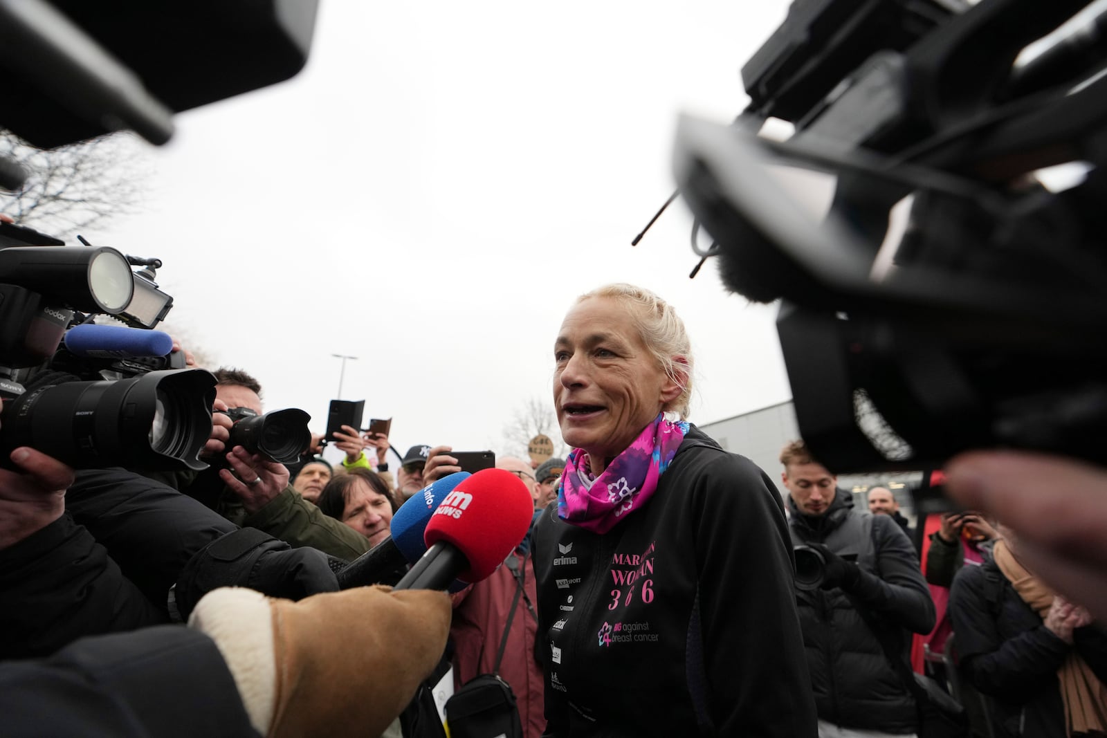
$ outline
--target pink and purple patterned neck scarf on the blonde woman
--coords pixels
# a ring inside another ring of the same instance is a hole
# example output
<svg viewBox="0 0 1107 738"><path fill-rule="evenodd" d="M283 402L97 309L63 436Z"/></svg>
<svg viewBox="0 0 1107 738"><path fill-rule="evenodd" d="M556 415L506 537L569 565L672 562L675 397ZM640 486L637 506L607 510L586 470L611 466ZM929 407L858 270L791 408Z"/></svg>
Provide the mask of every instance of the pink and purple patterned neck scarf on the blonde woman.
<svg viewBox="0 0 1107 738"><path fill-rule="evenodd" d="M687 422L658 415L599 477L592 476L588 454L572 449L557 493L558 517L593 533L608 532L653 496L687 430Z"/></svg>

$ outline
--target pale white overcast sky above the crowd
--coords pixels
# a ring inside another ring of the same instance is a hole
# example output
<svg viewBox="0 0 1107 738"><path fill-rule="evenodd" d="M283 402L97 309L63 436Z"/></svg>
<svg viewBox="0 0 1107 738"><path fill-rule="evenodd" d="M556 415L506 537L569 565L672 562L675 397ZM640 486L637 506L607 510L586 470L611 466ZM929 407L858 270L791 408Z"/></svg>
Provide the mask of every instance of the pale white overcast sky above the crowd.
<svg viewBox="0 0 1107 738"><path fill-rule="evenodd" d="M573 298L611 281L692 335L692 420L790 396L776 309L695 280L676 115L727 122L784 0L321 4L306 70L176 117L143 215L94 243L164 261L169 322L322 430L337 396L416 443L500 450L550 397Z"/></svg>

